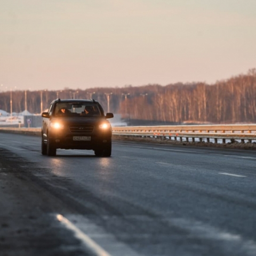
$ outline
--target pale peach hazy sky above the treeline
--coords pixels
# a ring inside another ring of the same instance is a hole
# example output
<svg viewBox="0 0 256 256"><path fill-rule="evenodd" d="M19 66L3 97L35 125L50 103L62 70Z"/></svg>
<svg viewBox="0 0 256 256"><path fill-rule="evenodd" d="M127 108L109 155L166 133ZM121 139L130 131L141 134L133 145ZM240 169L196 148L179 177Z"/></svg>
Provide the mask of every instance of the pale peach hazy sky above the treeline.
<svg viewBox="0 0 256 256"><path fill-rule="evenodd" d="M255 0L0 0L0 92L213 84L251 68Z"/></svg>

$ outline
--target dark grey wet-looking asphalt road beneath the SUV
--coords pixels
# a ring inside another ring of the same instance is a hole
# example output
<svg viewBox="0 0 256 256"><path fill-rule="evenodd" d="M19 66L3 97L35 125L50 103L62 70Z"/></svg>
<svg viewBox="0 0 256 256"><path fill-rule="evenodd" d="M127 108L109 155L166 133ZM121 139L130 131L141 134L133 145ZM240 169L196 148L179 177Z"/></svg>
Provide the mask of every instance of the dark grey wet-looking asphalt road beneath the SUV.
<svg viewBox="0 0 256 256"><path fill-rule="evenodd" d="M0 133L0 255L256 255L256 151ZM63 218L62 218L63 216Z"/></svg>

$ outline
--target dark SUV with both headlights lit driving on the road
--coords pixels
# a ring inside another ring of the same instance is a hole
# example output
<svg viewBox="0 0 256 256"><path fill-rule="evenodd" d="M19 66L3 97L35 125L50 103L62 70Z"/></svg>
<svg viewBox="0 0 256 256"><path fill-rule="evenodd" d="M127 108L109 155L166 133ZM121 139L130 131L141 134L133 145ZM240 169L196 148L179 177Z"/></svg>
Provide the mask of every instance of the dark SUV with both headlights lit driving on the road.
<svg viewBox="0 0 256 256"><path fill-rule="evenodd" d="M57 148L92 149L96 156L111 155L112 128L96 100L52 101L42 113L42 154L55 156Z"/></svg>

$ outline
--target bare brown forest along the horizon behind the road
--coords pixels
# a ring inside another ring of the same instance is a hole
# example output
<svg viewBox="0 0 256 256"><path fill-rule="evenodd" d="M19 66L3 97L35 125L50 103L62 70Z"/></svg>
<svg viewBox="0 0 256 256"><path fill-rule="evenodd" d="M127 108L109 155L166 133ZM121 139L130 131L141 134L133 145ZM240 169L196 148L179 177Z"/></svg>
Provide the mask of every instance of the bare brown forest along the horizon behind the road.
<svg viewBox="0 0 256 256"><path fill-rule="evenodd" d="M121 114L126 120L166 124L255 123L256 69L211 85L191 82L85 90L0 91L0 109L9 113L27 109L39 114L57 98L93 98L101 103L105 113Z"/></svg>

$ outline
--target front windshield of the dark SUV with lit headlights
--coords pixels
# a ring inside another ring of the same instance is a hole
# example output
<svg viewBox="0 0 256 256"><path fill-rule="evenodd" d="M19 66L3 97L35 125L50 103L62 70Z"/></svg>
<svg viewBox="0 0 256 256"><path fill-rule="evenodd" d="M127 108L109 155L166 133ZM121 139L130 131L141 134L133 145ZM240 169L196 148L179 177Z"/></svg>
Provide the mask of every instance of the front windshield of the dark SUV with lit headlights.
<svg viewBox="0 0 256 256"><path fill-rule="evenodd" d="M96 104L84 102L60 102L55 106L55 116L101 116Z"/></svg>

